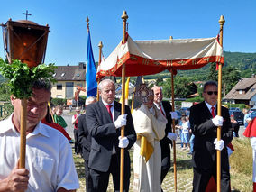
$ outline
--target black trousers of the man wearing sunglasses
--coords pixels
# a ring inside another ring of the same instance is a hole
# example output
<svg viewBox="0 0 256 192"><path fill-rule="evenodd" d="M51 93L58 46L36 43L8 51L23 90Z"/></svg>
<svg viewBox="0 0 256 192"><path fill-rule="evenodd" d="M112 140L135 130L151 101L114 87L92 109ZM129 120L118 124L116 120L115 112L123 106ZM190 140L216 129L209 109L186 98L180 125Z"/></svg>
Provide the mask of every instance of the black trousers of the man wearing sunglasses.
<svg viewBox="0 0 256 192"><path fill-rule="evenodd" d="M212 176L216 180L216 166L212 169L197 169L193 168L193 192L205 192L207 184ZM230 174L229 168L222 167L221 169L221 191L230 191Z"/></svg>

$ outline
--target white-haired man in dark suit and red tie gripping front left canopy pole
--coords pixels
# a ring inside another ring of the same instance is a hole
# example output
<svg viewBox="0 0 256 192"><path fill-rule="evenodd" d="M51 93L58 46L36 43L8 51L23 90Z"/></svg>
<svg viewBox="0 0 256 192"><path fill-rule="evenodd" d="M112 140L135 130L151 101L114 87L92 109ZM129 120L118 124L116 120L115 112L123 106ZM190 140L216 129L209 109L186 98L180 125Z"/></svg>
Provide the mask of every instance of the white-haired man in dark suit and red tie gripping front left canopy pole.
<svg viewBox="0 0 256 192"><path fill-rule="evenodd" d="M93 191L107 190L109 174L113 176L114 190L120 188L120 148L124 148L124 191L129 191L130 156L128 150L136 141L133 118L129 106L121 114L121 104L114 101L115 86L110 79L98 85L101 99L87 106L86 123L91 135L89 171L93 182ZM124 137L120 128L125 125Z"/></svg>

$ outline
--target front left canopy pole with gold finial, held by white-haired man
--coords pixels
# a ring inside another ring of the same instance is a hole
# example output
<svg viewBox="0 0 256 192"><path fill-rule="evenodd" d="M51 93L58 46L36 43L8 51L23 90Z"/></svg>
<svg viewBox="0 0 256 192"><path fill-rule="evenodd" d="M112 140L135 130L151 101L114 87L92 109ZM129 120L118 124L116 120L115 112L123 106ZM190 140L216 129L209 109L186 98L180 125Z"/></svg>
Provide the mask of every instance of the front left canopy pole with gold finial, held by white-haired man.
<svg viewBox="0 0 256 192"><path fill-rule="evenodd" d="M123 15L121 16L123 19L123 43L125 43L125 33L126 33L126 21L128 19L128 15L126 11L123 11ZM125 64L122 65L122 112L125 113ZM124 137L124 126L121 127L121 137ZM121 157L120 157L120 192L123 192L123 168L124 168L124 149L121 148Z"/></svg>

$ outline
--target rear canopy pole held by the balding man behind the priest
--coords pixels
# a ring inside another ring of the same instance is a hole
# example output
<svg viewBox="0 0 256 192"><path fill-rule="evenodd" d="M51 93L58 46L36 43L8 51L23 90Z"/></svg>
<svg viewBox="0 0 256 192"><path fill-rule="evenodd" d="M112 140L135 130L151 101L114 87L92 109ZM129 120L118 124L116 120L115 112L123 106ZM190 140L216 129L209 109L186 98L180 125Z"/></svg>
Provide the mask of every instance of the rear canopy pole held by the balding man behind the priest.
<svg viewBox="0 0 256 192"><path fill-rule="evenodd" d="M172 111L175 111L174 105L174 83L173 83L173 70L171 70L171 105ZM175 119L172 119L172 132L175 133ZM175 192L177 192L177 164L176 164L176 141L173 140L173 173L174 173L174 187Z"/></svg>

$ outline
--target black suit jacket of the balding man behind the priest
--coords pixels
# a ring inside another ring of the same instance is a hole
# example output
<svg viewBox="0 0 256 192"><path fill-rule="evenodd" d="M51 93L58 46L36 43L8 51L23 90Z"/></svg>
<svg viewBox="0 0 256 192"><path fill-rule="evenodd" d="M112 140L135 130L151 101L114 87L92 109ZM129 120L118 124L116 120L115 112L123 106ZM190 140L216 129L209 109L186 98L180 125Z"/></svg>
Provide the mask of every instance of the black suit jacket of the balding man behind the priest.
<svg viewBox="0 0 256 192"><path fill-rule="evenodd" d="M172 111L171 105L169 101L162 101L162 106L164 108L165 114L166 114L166 119L167 119L167 124L166 124L166 129L165 129L165 136L163 139L160 140L161 147L166 146L168 144L172 144L171 140L168 139L167 134L169 132L172 133L171 125L172 125L172 118L171 114L169 112Z"/></svg>

